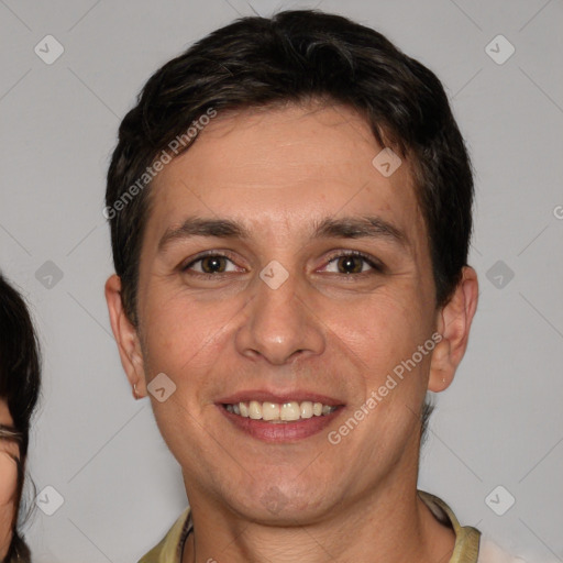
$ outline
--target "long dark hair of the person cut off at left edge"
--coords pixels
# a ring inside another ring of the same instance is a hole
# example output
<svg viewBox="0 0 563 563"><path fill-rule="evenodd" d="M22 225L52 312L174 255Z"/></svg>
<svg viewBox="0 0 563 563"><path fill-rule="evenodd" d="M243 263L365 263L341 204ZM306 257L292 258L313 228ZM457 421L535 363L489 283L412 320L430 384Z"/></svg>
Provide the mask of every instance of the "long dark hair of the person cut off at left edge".
<svg viewBox="0 0 563 563"><path fill-rule="evenodd" d="M20 294L0 274L0 397L8 402L13 427L0 426L0 439L19 445L18 484L14 495L12 542L4 563L31 561L31 553L18 531L21 515L30 422L40 393L40 344L27 307ZM29 514L27 514L29 516Z"/></svg>

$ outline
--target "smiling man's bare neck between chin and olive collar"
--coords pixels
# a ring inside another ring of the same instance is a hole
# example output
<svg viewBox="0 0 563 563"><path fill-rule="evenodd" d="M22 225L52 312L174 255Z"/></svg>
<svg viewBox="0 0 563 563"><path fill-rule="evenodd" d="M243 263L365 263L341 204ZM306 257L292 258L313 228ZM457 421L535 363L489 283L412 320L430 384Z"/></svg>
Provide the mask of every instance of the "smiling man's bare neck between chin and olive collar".
<svg viewBox="0 0 563 563"><path fill-rule="evenodd" d="M334 507L316 522L273 527L243 518L190 497L194 532L181 563L445 563L455 543L419 498L416 479L385 483L361 501Z"/></svg>

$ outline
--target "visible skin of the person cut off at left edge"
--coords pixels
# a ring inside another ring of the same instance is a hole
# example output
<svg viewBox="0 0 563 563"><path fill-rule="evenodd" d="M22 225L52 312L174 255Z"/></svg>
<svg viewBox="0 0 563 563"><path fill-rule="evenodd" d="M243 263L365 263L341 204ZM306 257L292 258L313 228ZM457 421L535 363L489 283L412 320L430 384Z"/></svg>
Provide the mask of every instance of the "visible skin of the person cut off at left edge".
<svg viewBox="0 0 563 563"><path fill-rule="evenodd" d="M0 399L0 424L13 424L8 404L3 399ZM9 454L18 455L18 444L0 440L0 561L8 553L12 541L15 510L13 495L18 485L18 468Z"/></svg>

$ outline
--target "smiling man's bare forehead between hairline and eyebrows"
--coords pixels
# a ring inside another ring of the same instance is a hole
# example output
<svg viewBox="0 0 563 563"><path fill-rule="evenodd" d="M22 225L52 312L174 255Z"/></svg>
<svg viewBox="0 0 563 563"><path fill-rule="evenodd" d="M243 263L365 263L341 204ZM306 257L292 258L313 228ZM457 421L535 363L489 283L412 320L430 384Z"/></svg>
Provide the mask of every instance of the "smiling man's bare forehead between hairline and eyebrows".
<svg viewBox="0 0 563 563"><path fill-rule="evenodd" d="M410 164L385 176L374 165L383 148L342 106L220 113L153 181L150 240L185 216L230 217L262 234L275 225L285 238L310 233L311 221L366 211L417 239L423 224Z"/></svg>

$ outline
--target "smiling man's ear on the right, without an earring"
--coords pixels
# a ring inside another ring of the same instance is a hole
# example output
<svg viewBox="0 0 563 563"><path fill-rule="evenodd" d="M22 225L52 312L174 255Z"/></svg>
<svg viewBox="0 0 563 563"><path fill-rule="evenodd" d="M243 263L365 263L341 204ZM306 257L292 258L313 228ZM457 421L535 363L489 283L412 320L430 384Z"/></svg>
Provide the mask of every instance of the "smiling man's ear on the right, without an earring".
<svg viewBox="0 0 563 563"><path fill-rule="evenodd" d="M477 273L472 267L465 266L455 292L438 313L437 330L442 335L442 340L432 352L429 390L443 391L453 382L455 371L467 347L477 300Z"/></svg>

